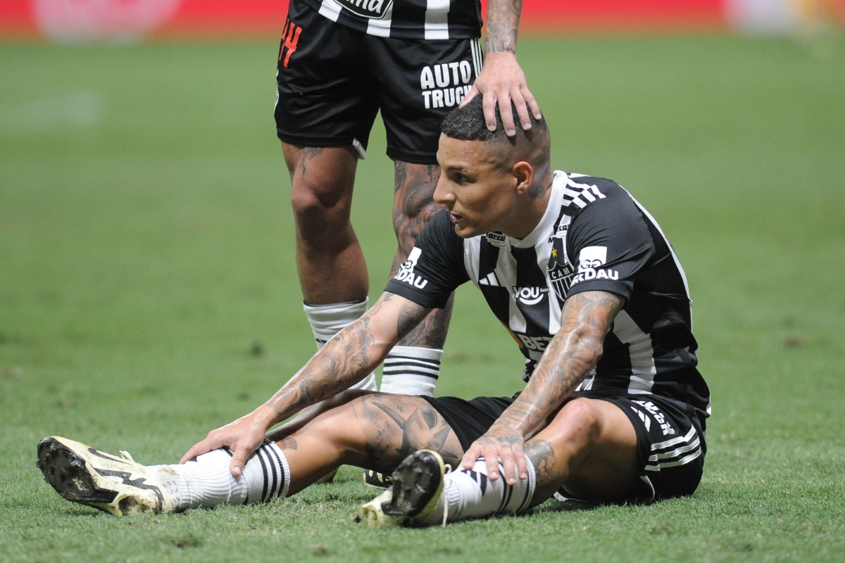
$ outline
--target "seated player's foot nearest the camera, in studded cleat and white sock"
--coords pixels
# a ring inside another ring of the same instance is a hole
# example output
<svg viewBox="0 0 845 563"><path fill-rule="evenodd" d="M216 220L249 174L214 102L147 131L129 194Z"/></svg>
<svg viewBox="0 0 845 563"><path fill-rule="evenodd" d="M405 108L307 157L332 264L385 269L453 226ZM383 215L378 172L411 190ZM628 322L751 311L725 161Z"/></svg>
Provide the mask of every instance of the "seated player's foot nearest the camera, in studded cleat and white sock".
<svg viewBox="0 0 845 563"><path fill-rule="evenodd" d="M406 457L392 475L393 487L363 505L359 519L371 528L431 526L499 514L520 514L531 506L537 483L534 466L526 458L528 479L507 485L491 481L480 458L470 470L447 473L439 453L421 450ZM499 473L504 468L499 463Z"/></svg>

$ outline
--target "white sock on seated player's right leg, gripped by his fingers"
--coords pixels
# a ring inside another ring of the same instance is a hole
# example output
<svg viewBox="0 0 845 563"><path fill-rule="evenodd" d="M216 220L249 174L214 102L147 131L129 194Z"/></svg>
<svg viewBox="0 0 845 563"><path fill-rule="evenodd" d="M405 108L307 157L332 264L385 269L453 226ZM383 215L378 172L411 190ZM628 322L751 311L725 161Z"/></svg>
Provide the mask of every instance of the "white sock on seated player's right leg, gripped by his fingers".
<svg viewBox="0 0 845 563"><path fill-rule="evenodd" d="M516 485L504 482L504 468L499 460L499 479L487 476L487 464L479 457L472 469L458 469L444 476L443 494L437 508L428 517L430 524L457 522L499 514L521 514L531 506L537 487L534 464L526 457L528 479L516 479Z"/></svg>

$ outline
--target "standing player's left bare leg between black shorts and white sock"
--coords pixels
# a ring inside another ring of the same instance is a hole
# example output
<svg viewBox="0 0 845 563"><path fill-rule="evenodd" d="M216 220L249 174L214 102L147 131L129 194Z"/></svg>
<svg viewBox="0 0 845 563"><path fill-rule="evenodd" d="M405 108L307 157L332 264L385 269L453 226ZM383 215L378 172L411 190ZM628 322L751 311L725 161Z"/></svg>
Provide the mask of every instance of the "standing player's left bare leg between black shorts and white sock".
<svg viewBox="0 0 845 563"><path fill-rule="evenodd" d="M282 143L291 175L297 230L297 271L307 303L363 300L367 267L349 221L357 153L350 147Z"/></svg>

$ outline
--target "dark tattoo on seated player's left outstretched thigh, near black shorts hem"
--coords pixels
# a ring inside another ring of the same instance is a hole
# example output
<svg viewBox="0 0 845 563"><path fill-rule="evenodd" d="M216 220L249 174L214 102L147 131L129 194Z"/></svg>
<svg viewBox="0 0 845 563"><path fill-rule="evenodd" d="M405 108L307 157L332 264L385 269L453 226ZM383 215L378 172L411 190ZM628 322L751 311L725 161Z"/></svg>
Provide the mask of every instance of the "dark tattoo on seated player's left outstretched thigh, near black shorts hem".
<svg viewBox="0 0 845 563"><path fill-rule="evenodd" d="M447 463L456 464L460 460L458 454L444 447L450 425L431 407L406 414L401 403L391 401L387 396L365 403L363 417L368 424L378 428L367 436L368 457L404 458L417 450L428 449L440 452Z"/></svg>

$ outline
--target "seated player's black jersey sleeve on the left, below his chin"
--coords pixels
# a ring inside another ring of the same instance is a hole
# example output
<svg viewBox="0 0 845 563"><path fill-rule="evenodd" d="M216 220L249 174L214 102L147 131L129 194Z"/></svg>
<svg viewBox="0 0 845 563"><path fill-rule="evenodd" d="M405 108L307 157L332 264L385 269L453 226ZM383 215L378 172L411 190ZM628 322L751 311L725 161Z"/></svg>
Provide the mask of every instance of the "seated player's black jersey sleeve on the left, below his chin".
<svg viewBox="0 0 845 563"><path fill-rule="evenodd" d="M464 241L455 234L444 210L428 221L408 259L385 290L417 305L442 309L452 291L468 280Z"/></svg>

